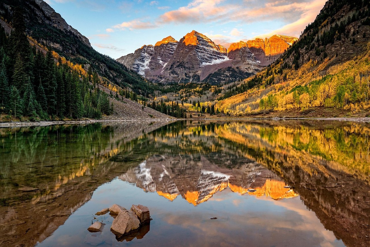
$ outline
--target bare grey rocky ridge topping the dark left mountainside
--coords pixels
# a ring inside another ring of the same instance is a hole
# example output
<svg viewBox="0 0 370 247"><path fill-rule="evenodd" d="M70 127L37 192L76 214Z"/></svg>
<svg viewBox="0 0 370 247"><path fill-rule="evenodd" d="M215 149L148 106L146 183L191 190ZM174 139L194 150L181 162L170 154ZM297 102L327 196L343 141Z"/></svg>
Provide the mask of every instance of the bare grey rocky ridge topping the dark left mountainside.
<svg viewBox="0 0 370 247"><path fill-rule="evenodd" d="M76 29L74 29L70 25L68 25L68 23L63 19L63 17L59 13L55 12L55 10L52 7L50 7L49 4L47 4L43 0L35 0L35 2L45 12L46 16L50 17L54 27L56 27L60 30L69 30L69 31L71 31L82 42L84 42L86 45L91 47L91 44L90 44L90 41L88 40L88 38L83 36L80 32L78 32Z"/></svg>

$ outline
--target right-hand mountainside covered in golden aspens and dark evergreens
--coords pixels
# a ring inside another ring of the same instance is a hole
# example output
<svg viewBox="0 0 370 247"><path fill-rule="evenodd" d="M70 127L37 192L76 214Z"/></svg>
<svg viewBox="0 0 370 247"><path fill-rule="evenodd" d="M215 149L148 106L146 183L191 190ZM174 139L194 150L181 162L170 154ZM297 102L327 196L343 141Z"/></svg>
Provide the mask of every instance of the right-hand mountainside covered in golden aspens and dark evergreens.
<svg viewBox="0 0 370 247"><path fill-rule="evenodd" d="M274 64L220 95L231 115L268 111L370 108L370 2L329 0Z"/></svg>

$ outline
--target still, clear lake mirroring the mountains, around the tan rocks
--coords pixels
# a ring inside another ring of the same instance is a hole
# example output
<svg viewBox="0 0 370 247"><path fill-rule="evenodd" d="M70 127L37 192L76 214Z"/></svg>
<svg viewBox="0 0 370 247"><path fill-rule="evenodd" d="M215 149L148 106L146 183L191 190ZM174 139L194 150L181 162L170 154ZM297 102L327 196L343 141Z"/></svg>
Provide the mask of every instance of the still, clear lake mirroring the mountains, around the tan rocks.
<svg viewBox="0 0 370 247"><path fill-rule="evenodd" d="M370 246L369 138L319 120L1 128L0 246ZM116 238L95 215L112 204L153 220Z"/></svg>

